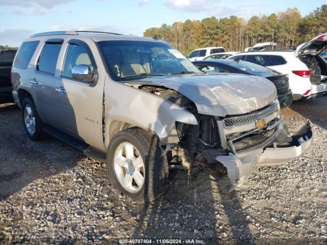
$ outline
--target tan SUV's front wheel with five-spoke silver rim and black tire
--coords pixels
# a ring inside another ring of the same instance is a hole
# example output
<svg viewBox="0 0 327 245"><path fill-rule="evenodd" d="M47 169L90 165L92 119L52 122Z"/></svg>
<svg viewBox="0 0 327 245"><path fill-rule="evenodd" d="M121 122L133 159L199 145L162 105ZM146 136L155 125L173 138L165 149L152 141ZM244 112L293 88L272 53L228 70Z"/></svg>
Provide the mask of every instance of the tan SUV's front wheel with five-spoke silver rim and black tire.
<svg viewBox="0 0 327 245"><path fill-rule="evenodd" d="M113 185L138 203L149 203L164 192L167 157L159 139L148 131L130 128L114 135L107 155Z"/></svg>

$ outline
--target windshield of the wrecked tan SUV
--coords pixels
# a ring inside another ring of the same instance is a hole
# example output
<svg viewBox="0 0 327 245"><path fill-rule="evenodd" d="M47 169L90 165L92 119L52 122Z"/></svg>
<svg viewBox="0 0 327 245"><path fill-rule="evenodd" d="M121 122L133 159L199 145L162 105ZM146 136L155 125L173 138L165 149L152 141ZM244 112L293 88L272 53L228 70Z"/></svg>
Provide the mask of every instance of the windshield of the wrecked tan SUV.
<svg viewBox="0 0 327 245"><path fill-rule="evenodd" d="M100 50L115 81L201 72L168 43L100 41Z"/></svg>

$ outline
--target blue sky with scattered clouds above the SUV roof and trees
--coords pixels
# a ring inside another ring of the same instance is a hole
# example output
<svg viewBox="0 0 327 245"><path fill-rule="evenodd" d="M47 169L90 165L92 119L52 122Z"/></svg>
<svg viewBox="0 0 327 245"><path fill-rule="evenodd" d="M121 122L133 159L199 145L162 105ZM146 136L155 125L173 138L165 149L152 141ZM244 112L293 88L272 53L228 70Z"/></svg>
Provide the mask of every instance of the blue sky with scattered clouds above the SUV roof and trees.
<svg viewBox="0 0 327 245"><path fill-rule="evenodd" d="M297 7L302 16L325 1L226 0L0 0L0 44L18 46L32 33L97 30L143 35L150 27L186 19L278 13Z"/></svg>

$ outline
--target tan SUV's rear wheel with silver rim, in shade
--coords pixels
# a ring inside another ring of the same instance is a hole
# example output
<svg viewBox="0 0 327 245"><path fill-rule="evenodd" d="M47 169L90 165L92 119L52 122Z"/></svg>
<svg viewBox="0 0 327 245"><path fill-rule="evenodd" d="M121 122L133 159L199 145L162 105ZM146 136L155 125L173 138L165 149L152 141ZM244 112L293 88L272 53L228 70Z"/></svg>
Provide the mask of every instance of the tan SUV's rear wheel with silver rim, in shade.
<svg viewBox="0 0 327 245"><path fill-rule="evenodd" d="M21 116L29 138L34 141L40 140L43 134L42 122L30 97L26 97L22 102Z"/></svg>

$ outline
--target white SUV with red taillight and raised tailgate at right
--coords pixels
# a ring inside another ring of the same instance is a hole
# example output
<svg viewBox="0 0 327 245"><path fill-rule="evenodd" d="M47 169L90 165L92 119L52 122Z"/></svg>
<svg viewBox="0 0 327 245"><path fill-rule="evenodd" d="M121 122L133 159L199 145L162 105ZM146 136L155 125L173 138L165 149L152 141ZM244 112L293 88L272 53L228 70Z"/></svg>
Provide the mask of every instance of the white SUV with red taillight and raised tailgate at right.
<svg viewBox="0 0 327 245"><path fill-rule="evenodd" d="M292 50L243 52L229 57L263 65L289 75L293 100L327 95L327 63L318 54L327 46L327 33Z"/></svg>

